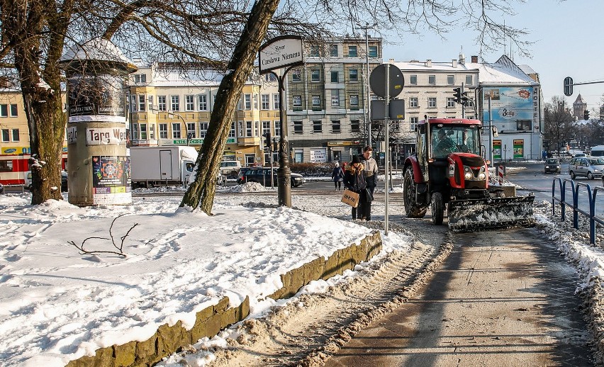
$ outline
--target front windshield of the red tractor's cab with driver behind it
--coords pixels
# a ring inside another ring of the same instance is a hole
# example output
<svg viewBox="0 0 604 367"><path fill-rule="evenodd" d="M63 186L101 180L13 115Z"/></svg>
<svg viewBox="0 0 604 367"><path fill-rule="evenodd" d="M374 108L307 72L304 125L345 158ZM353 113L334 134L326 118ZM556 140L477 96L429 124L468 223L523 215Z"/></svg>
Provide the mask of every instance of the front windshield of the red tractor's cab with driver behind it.
<svg viewBox="0 0 604 367"><path fill-rule="evenodd" d="M480 155L479 127L476 125L432 126L432 157L446 158L453 152Z"/></svg>

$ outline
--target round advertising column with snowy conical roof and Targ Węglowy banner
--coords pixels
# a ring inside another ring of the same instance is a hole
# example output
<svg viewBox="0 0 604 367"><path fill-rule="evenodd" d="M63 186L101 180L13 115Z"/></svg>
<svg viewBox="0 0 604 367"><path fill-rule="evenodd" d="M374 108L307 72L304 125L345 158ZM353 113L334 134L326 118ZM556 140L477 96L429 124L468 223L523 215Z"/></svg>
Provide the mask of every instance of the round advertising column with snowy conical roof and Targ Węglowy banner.
<svg viewBox="0 0 604 367"><path fill-rule="evenodd" d="M67 74L69 203L128 205L125 91L136 67L101 39L74 47L61 62Z"/></svg>

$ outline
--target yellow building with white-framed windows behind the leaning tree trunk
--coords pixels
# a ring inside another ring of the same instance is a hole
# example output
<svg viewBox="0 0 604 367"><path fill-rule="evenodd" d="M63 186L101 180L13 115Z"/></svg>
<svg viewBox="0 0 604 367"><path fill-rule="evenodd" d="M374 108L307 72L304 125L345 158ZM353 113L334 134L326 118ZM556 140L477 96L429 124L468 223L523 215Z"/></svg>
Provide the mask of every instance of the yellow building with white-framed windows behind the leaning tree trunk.
<svg viewBox="0 0 604 367"><path fill-rule="evenodd" d="M222 74L177 72L167 64L142 65L130 76L130 145L201 147ZM262 136L281 134L279 92L273 75L253 73L233 116L223 160L264 164Z"/></svg>

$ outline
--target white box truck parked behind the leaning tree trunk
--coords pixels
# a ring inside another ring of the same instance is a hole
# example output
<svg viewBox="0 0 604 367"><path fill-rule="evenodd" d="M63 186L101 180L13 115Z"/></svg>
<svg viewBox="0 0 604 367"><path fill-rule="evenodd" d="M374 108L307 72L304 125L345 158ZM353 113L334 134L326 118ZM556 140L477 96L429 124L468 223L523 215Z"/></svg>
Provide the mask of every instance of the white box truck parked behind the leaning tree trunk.
<svg viewBox="0 0 604 367"><path fill-rule="evenodd" d="M194 147L131 147L132 187L186 186L196 160Z"/></svg>

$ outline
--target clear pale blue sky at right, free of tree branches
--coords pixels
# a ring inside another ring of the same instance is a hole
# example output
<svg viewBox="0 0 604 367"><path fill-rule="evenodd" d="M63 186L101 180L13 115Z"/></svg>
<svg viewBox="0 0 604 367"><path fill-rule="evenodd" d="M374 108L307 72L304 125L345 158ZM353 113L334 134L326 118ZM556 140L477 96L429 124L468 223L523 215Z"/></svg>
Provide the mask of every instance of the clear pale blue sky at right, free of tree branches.
<svg viewBox="0 0 604 367"><path fill-rule="evenodd" d="M604 81L604 47L601 45L604 3L601 0L528 0L514 7L517 15L505 16L505 24L526 28L530 32L527 40L535 43L530 46L530 58L513 55L513 60L516 64L528 64L539 73L546 102L552 96L564 96L565 77L572 77L575 83ZM500 21L503 20L502 16ZM479 54L479 47L474 45L476 33L456 29L446 37L443 41L435 35L423 38L410 35L402 40L403 45L384 43L384 61L393 58L449 62L457 59L462 47L467 62L471 55ZM509 42L507 51L501 47L498 52L482 57L486 62L496 62L504 53L510 55ZM602 104L604 83L574 86L574 94L566 97L566 101L573 103L579 93L591 111Z"/></svg>

